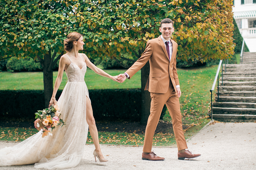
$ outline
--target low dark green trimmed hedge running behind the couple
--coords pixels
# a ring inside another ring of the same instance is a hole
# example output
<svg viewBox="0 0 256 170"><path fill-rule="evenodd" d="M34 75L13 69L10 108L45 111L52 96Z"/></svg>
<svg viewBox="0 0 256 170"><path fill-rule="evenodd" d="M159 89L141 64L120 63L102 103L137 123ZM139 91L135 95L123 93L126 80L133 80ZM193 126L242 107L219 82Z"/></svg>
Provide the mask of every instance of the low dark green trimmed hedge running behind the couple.
<svg viewBox="0 0 256 170"><path fill-rule="evenodd" d="M58 90L58 100L62 90ZM33 119L37 110L44 109L43 90L0 90L0 116ZM140 121L141 89L89 90L93 115L98 121ZM161 119L166 111L163 108Z"/></svg>

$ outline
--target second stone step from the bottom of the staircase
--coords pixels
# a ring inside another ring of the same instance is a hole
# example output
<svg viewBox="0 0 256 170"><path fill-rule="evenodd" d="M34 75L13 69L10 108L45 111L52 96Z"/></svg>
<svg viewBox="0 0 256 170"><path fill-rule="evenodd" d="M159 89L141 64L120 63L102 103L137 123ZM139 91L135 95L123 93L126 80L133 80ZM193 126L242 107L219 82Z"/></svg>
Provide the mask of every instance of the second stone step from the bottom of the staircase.
<svg viewBox="0 0 256 170"><path fill-rule="evenodd" d="M214 114L253 114L256 115L255 108L225 108L225 107L213 107Z"/></svg>

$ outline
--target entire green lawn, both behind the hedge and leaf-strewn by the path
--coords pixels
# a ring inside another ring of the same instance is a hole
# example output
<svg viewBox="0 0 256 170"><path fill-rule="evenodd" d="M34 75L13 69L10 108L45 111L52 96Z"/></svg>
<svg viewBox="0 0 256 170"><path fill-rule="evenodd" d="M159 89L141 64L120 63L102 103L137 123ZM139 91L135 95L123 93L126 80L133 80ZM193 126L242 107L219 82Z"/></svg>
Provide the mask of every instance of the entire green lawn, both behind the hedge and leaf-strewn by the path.
<svg viewBox="0 0 256 170"><path fill-rule="evenodd" d="M207 113L210 110L210 89L218 66L198 67L194 69L178 69L179 81L181 85L182 95L180 98L181 113L183 124L189 126L184 129L185 138L189 138L197 133L210 119ZM125 70L105 70L111 75L124 73ZM8 73L0 72L0 89L43 89L43 74L41 72L23 72ZM57 72L54 72L54 79ZM55 81L54 81L55 82ZM64 74L60 89L63 89L67 82ZM108 78L95 74L88 69L85 75L85 82L89 89L102 88L140 88L141 74L140 71L133 76L132 79L126 80L124 83L117 83ZM213 92L214 94L216 91ZM168 111L163 121L171 121ZM0 140L23 141L27 137L36 133L35 129L26 128L1 128ZM120 144L120 145L143 145L144 135L135 133L114 133L99 132L99 140L101 144ZM88 135L87 143L92 143L90 135ZM155 134L153 145L171 146L175 144L173 134Z"/></svg>

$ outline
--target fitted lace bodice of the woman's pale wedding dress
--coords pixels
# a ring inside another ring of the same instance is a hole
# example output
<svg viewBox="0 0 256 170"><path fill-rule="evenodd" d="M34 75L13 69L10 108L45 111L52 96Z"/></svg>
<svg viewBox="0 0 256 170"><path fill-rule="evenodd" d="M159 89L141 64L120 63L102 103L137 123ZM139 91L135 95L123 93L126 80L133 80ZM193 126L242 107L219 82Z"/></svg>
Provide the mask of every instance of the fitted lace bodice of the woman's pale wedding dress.
<svg viewBox="0 0 256 170"><path fill-rule="evenodd" d="M84 82L86 69L86 63L84 63L82 69L80 69L71 61L69 67L66 70L67 79L69 82Z"/></svg>

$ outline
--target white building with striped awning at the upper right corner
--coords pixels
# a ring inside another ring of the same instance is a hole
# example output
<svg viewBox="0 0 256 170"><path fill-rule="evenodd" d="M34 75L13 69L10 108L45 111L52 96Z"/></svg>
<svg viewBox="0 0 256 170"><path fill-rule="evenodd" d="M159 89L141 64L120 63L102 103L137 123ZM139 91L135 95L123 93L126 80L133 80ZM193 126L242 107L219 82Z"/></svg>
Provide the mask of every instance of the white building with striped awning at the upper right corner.
<svg viewBox="0 0 256 170"><path fill-rule="evenodd" d="M234 19L249 51L256 52L256 0L234 0Z"/></svg>

